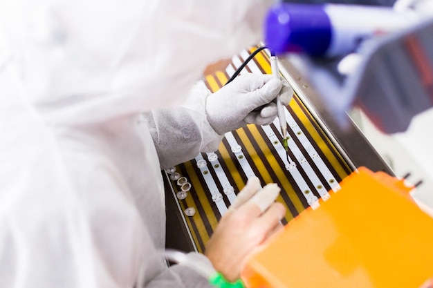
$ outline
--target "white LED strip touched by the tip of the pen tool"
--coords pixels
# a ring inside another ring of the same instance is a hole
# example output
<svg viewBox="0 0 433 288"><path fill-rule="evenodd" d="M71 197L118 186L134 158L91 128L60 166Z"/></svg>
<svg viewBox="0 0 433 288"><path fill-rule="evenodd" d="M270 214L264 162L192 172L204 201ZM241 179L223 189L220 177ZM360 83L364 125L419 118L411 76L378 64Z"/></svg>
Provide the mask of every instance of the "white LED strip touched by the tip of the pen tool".
<svg viewBox="0 0 433 288"><path fill-rule="evenodd" d="M268 135L268 138L270 140L270 142L275 142L277 141L278 144L275 144L275 151L277 151L279 157L283 160L284 163L286 163L286 165L288 165L287 162L287 153L286 150L284 149L284 146L282 145L282 143L279 141L277 135L275 135L274 131L272 130L272 128L270 128L269 125L266 126L261 126L261 128L263 128L263 130L265 131L266 135ZM291 143L289 143L291 142ZM289 148L291 148L291 146L293 146L293 144L295 144L295 142L293 142L292 139L288 140L288 144L289 144ZM296 145L296 144L295 144ZM316 202L318 199L317 197L313 194L312 191L310 191L311 189L308 187L308 185L306 184L304 177L302 177L300 171L297 169L297 167L295 166L294 168L288 169L288 172L291 173L293 179L295 180L296 184L298 187L300 187L302 195L304 195L306 202L311 205L314 202Z"/></svg>

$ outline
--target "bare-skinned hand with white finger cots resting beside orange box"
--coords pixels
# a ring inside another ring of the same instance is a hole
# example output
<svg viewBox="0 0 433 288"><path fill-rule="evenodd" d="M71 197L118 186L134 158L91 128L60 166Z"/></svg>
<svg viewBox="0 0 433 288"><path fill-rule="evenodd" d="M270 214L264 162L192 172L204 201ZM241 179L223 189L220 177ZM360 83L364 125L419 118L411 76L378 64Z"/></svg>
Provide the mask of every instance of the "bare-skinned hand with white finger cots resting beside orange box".
<svg viewBox="0 0 433 288"><path fill-rule="evenodd" d="M277 184L261 189L259 179L252 177L219 221L205 256L227 280L237 280L246 256L282 228L279 221L286 209L275 202L279 191Z"/></svg>

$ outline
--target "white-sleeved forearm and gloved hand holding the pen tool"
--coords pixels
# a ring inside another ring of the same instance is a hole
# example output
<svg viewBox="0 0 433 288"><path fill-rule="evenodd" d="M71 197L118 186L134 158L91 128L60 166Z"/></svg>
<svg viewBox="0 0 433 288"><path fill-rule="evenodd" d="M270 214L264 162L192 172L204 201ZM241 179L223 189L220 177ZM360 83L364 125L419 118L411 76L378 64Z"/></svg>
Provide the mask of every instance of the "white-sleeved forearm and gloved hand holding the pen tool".
<svg viewBox="0 0 433 288"><path fill-rule="evenodd" d="M143 113L161 168L216 151L227 132L247 124L270 124L277 117L278 95L284 105L293 97L285 80L247 73L215 93L196 84L181 106Z"/></svg>

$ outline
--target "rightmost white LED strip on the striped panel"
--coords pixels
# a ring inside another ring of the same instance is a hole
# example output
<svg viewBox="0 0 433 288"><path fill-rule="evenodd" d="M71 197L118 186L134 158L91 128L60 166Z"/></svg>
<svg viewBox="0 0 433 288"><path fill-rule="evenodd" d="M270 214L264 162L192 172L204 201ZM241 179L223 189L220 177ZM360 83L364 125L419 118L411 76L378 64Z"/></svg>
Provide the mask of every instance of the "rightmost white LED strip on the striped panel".
<svg viewBox="0 0 433 288"><path fill-rule="evenodd" d="M302 146L305 148L308 155L310 155L311 159L313 160L314 164L317 166L317 169L319 169L320 173L322 173L323 177L328 180L329 186L331 186L331 189L333 191L340 190L340 184L338 184L338 181L335 180L335 177L332 175L331 171L329 171L328 166L324 164L322 158L319 156L319 153L315 150L313 145L311 145L311 142L308 140L306 135L301 131L300 127L297 125L297 122L295 119L293 119L292 115L288 113L287 109L285 109L286 113L286 121L288 123L288 128L290 128L293 133L295 133L297 139L300 140L302 143ZM301 132L299 135L298 132ZM296 155L295 151L293 153ZM302 153L300 153L302 155ZM322 194L321 194L322 195Z"/></svg>

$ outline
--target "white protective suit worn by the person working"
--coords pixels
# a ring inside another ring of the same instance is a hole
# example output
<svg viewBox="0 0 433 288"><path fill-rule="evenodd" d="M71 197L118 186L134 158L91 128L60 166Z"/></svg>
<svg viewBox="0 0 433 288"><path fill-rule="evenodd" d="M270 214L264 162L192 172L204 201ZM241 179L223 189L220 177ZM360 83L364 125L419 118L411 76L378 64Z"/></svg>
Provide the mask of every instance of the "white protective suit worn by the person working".
<svg viewBox="0 0 433 288"><path fill-rule="evenodd" d="M140 267L148 288L207 287L157 252L163 180L138 115L257 43L268 4L0 0L0 287L133 287ZM154 113L156 130L192 123L174 162L221 141L203 102Z"/></svg>

